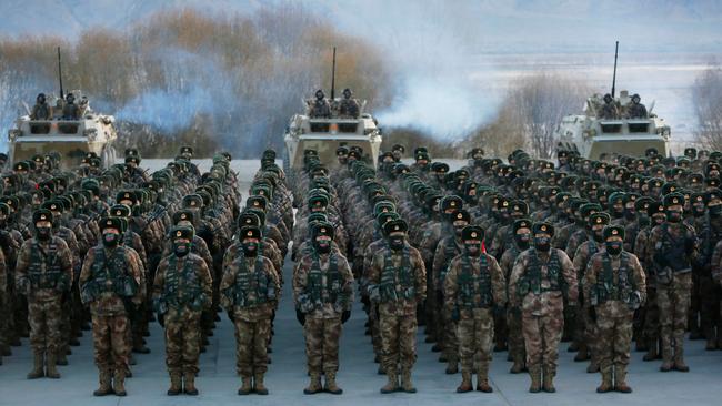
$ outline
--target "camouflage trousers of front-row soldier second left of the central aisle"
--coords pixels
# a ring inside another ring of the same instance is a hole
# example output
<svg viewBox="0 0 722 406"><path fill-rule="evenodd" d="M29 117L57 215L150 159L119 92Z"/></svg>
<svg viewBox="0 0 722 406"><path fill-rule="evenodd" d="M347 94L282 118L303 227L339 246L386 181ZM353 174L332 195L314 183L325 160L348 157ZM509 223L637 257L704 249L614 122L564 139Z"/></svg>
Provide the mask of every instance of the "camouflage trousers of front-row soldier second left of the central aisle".
<svg viewBox="0 0 722 406"><path fill-rule="evenodd" d="M166 367L169 374L197 374L201 336L200 312L166 314Z"/></svg>

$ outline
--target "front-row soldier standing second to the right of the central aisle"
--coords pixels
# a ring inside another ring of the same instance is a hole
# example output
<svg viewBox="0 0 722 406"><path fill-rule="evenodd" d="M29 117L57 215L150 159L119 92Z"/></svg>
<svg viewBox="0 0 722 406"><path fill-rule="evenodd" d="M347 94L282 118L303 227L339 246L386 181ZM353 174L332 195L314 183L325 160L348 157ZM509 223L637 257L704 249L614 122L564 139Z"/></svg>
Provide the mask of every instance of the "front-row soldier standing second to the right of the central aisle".
<svg viewBox="0 0 722 406"><path fill-rule="evenodd" d="M415 393L411 368L417 359L417 305L427 295L427 271L421 253L407 242L407 222L384 224L388 246L375 253L369 270L369 298L378 303L381 363L389 382L382 394ZM401 385L398 368L401 365Z"/></svg>

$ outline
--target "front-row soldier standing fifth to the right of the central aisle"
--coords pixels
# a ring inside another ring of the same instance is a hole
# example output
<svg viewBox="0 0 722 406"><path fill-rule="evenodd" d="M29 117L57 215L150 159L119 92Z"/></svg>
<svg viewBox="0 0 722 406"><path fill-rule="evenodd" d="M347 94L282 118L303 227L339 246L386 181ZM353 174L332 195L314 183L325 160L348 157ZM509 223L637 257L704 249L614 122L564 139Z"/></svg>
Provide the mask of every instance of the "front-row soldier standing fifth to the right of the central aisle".
<svg viewBox="0 0 722 406"><path fill-rule="evenodd" d="M598 393L629 394L626 366L632 346L634 312L644 303L646 284L639 260L624 251L624 227L604 227L603 252L592 256L584 274L584 307L596 323L602 372ZM580 248L581 250L581 248Z"/></svg>

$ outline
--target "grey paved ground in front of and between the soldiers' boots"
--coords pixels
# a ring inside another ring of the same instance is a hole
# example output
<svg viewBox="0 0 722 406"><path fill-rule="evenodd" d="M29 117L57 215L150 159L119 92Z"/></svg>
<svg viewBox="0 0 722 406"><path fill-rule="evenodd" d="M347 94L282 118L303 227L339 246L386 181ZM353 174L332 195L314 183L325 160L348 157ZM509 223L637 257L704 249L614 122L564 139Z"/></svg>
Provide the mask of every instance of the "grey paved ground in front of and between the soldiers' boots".
<svg viewBox="0 0 722 406"><path fill-rule="evenodd" d="M234 165L235 166L235 165ZM250 173L252 164L235 166ZM252 174L252 173L251 173ZM244 193L245 194L245 193ZM285 268L285 281L290 281L291 264ZM453 402L454 405L719 405L722 399L722 352L705 352L703 342L688 344L688 363L691 372L658 372L659 363L643 363L642 354L633 354L629 383L634 388L631 395L598 395L598 374L586 374L586 364L573 363L572 354L561 352L556 394L527 393L529 377L508 373L510 363L505 353L494 354L491 368L493 394L455 394L460 375L444 375L444 364L435 361L438 354L431 353L430 345L419 345L419 361L414 371L419 393L415 395L380 395L379 388L385 383L377 375L369 337L363 335L363 312L354 307L351 319L344 326L341 343L341 371L339 384L342 396L302 394L307 385L305 355L301 327L292 308L290 284L284 286L275 323L275 337L271 354L273 363L269 367L267 385L269 396L250 395L239 397L235 390L240 379L234 375L234 338L231 323L223 316L211 337L211 345L201 356L201 375L197 382L201 390L198 397L168 397L168 375L164 368L162 332L154 324L151 328L149 347L151 354L136 355L138 365L133 367L134 377L128 380L128 397L92 397L97 387L97 369L92 364L90 334L81 338L81 346L73 347L70 365L60 367L59 380L27 380L31 366L28 341L13 348L13 355L4 358L0 366L0 405L440 405ZM419 334L419 342L423 336ZM565 348L565 345L563 345Z"/></svg>

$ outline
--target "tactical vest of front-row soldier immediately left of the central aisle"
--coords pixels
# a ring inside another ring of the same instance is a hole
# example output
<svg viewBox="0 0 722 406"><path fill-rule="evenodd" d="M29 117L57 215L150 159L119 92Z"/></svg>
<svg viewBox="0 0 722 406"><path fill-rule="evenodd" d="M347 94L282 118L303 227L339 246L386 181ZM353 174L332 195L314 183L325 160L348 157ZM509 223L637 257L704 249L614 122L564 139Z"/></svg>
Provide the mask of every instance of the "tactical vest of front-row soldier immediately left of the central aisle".
<svg viewBox="0 0 722 406"><path fill-rule="evenodd" d="M254 268L251 272L245 262L245 255L235 260L239 271L233 283L233 305L242 308L257 307L275 298L273 283L268 273L263 272L263 256L255 256Z"/></svg>

